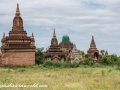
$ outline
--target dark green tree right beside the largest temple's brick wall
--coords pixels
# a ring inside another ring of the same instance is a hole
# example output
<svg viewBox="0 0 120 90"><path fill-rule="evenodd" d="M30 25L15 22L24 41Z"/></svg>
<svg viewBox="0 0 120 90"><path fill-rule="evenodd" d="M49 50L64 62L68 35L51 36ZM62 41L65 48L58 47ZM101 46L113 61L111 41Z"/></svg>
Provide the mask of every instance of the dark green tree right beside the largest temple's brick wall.
<svg viewBox="0 0 120 90"><path fill-rule="evenodd" d="M44 48L36 48L35 52L35 63L36 64L43 64L44 63Z"/></svg>

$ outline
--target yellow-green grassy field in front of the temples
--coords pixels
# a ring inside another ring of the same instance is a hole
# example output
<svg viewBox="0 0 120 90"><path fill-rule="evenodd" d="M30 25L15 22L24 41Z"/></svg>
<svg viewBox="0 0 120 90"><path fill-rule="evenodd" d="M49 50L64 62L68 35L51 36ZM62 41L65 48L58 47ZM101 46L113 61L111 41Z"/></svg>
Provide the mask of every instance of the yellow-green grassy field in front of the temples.
<svg viewBox="0 0 120 90"><path fill-rule="evenodd" d="M81 66L78 68L1 67L0 85L47 85L0 90L120 90L120 70L116 67Z"/></svg>

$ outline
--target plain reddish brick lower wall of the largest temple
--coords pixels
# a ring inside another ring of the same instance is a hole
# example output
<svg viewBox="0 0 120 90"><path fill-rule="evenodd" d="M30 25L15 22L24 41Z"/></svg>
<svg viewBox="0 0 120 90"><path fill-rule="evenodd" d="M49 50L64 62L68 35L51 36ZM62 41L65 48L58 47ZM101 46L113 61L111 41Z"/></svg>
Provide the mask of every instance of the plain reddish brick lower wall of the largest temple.
<svg viewBox="0 0 120 90"><path fill-rule="evenodd" d="M34 65L35 52L7 52L2 54L1 61L4 66Z"/></svg>

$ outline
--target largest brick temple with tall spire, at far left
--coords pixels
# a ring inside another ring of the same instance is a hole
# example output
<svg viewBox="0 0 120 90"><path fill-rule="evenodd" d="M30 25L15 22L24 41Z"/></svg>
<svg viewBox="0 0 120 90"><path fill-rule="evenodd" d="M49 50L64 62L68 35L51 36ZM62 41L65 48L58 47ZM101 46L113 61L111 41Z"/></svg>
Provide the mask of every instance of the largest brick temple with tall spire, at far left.
<svg viewBox="0 0 120 90"><path fill-rule="evenodd" d="M15 17L13 19L12 30L9 31L9 36L3 34L1 40L1 58L2 66L21 66L35 64L35 40L32 33L27 36L27 32L23 28L23 20L20 16L19 5Z"/></svg>

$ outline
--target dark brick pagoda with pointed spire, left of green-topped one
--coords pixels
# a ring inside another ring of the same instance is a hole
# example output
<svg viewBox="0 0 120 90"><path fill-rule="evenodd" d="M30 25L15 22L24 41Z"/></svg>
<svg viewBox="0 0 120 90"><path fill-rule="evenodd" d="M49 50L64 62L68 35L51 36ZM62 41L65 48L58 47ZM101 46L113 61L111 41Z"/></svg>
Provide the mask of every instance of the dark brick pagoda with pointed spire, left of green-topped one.
<svg viewBox="0 0 120 90"><path fill-rule="evenodd" d="M64 52L60 49L60 46L58 45L55 29L53 32L50 48L46 50L45 59L50 61L65 61Z"/></svg>

